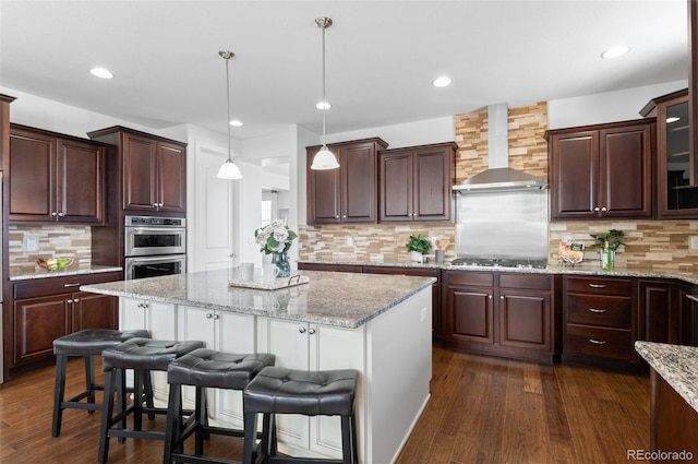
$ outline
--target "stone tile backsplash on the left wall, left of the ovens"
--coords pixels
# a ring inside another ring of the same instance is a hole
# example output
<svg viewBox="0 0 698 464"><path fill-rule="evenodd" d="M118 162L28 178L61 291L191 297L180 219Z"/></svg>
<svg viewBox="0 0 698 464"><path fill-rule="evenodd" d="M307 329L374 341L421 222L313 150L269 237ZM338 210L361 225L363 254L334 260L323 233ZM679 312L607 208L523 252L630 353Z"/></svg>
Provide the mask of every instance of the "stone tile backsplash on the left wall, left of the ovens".
<svg viewBox="0 0 698 464"><path fill-rule="evenodd" d="M67 226L62 224L49 226L8 227L10 276L28 274L38 269L36 258L72 257L73 267L88 267L92 261L89 227ZM38 249L26 251L26 240L36 240Z"/></svg>

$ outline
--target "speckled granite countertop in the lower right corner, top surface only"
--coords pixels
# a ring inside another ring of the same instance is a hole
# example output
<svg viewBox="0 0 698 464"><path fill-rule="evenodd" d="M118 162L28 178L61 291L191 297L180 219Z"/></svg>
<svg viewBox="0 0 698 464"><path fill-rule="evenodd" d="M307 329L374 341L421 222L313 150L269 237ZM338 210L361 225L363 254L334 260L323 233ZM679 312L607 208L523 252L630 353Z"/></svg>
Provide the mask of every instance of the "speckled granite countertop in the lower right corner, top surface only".
<svg viewBox="0 0 698 464"><path fill-rule="evenodd" d="M698 347L637 341L635 349L698 412Z"/></svg>

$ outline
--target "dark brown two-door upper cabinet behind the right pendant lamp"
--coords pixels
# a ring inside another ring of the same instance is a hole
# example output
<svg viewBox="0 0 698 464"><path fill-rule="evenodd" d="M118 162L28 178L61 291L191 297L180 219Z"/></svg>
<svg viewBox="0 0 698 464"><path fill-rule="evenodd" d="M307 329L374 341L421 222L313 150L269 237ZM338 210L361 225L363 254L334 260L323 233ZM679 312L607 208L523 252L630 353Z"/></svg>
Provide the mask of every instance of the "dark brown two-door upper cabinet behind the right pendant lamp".
<svg viewBox="0 0 698 464"><path fill-rule="evenodd" d="M313 170L320 146L306 147L308 224L376 223L376 156L387 143L378 138L327 145L338 169Z"/></svg>

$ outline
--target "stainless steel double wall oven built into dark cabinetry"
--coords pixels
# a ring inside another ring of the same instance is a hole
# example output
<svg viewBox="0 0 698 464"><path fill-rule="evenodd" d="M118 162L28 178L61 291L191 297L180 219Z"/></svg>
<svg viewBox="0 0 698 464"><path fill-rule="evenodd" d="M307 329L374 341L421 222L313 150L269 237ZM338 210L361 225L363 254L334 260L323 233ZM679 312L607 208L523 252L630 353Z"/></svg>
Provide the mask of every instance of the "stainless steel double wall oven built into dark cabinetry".
<svg viewBox="0 0 698 464"><path fill-rule="evenodd" d="M185 221L182 217L127 216L125 278L186 272Z"/></svg>

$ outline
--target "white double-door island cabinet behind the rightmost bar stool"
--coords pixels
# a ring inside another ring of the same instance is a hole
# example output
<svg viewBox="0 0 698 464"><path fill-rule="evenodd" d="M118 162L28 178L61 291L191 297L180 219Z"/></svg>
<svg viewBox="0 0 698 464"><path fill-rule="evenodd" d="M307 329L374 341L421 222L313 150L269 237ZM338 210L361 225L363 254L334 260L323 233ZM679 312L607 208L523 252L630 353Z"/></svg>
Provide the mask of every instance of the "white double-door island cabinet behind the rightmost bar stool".
<svg viewBox="0 0 698 464"><path fill-rule="evenodd" d="M363 370L364 338L360 329L257 319L257 352L276 353L277 366L302 370ZM280 415L279 440L291 449L341 456L339 417Z"/></svg>

